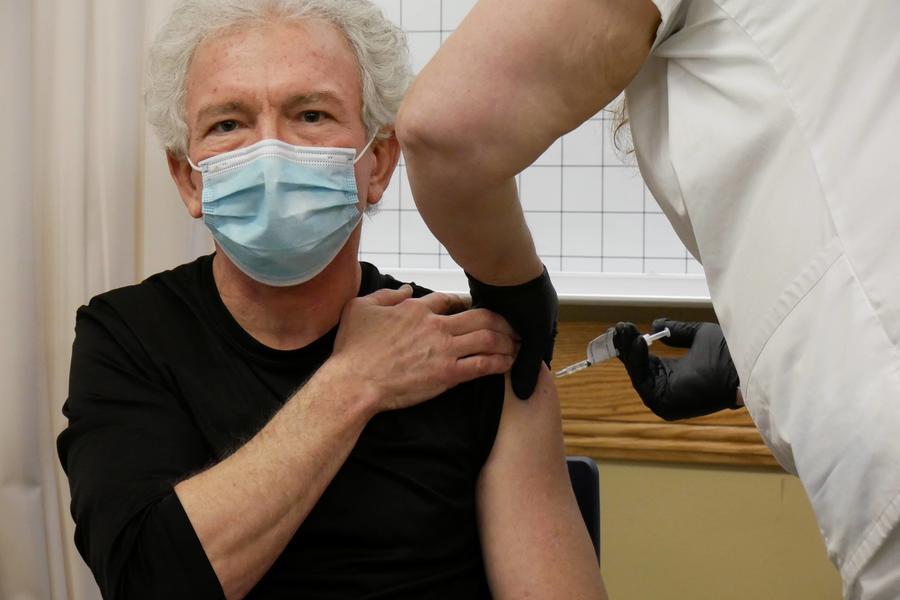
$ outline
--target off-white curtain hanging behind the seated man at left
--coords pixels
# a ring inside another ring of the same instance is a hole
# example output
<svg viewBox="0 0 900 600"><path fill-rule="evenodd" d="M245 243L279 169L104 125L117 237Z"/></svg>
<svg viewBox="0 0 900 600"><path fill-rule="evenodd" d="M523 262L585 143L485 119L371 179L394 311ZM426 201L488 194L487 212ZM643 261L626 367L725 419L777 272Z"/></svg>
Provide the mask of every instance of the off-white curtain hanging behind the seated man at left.
<svg viewBox="0 0 900 600"><path fill-rule="evenodd" d="M145 126L174 0L0 0L0 598L99 598L55 438L78 306L211 248Z"/></svg>

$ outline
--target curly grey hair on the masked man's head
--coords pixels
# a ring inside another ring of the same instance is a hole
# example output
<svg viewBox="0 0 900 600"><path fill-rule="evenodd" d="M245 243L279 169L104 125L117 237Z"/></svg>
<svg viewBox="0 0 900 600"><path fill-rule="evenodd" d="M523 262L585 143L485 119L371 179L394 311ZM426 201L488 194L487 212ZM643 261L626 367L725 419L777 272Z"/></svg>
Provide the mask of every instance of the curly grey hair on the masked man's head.
<svg viewBox="0 0 900 600"><path fill-rule="evenodd" d="M393 123L412 79L409 51L403 32L368 0L182 0L150 48L144 96L147 119L166 149L187 155L187 71L202 41L235 28L304 19L330 22L353 48L369 136Z"/></svg>

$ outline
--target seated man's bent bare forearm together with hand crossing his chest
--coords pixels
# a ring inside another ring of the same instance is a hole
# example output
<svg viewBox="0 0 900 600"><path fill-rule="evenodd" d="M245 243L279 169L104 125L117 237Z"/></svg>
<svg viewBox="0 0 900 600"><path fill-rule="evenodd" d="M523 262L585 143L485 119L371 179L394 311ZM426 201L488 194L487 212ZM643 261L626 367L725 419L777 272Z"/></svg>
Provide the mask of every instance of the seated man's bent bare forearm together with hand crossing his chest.
<svg viewBox="0 0 900 600"><path fill-rule="evenodd" d="M509 326L446 294L381 290L344 309L332 357L237 452L175 487L227 598L281 554L369 419L502 373ZM383 360L390 356L391 360Z"/></svg>

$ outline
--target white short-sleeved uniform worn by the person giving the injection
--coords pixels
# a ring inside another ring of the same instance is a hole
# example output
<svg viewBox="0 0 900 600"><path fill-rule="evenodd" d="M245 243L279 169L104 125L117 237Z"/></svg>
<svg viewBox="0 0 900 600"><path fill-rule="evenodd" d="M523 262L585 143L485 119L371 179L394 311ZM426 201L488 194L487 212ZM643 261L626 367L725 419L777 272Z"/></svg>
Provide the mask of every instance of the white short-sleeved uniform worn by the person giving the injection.
<svg viewBox="0 0 900 600"><path fill-rule="evenodd" d="M638 164L848 598L900 598L900 1L654 0Z"/></svg>

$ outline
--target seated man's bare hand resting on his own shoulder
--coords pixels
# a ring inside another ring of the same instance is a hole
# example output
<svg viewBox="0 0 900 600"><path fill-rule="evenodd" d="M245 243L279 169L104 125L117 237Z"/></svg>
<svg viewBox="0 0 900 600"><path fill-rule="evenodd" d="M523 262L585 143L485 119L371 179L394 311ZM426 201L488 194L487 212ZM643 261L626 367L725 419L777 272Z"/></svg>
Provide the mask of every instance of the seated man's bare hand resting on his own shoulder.
<svg viewBox="0 0 900 600"><path fill-rule="evenodd" d="M377 411L404 408L484 375L504 373L515 334L500 316L452 294L412 298L408 285L347 303L334 353L345 376L375 393Z"/></svg>

